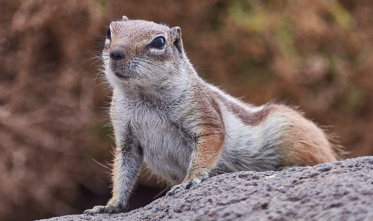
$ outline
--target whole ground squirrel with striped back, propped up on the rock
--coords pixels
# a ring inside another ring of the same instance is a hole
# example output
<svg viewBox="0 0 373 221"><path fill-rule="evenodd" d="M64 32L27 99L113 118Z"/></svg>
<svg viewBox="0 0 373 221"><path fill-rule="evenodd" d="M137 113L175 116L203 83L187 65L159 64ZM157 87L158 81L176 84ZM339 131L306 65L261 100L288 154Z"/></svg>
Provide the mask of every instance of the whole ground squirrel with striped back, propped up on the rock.
<svg viewBox="0 0 373 221"><path fill-rule="evenodd" d="M296 110L256 107L201 79L179 27L123 16L109 28L102 60L113 90L113 197L85 214L125 210L143 163L174 185L170 196L216 174L337 160L326 134Z"/></svg>

